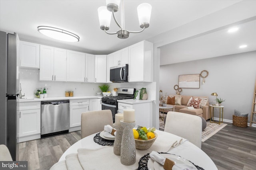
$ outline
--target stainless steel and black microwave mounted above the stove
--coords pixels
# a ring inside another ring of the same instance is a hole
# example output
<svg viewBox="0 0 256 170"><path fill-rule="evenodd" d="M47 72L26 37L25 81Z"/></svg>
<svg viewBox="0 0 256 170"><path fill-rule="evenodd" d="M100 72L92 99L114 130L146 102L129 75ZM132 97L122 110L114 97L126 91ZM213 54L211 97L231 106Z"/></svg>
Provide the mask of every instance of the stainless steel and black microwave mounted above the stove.
<svg viewBox="0 0 256 170"><path fill-rule="evenodd" d="M128 82L128 64L110 67L111 82Z"/></svg>

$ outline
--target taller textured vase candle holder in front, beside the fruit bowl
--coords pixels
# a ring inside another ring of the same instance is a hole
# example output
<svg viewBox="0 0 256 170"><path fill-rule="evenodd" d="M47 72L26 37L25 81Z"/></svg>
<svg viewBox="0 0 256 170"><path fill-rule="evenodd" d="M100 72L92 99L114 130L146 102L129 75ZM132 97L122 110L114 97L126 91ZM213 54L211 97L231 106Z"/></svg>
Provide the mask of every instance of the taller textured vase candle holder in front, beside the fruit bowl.
<svg viewBox="0 0 256 170"><path fill-rule="evenodd" d="M136 162L136 147L132 129L136 121L132 123L120 121L123 130L120 161L124 165L132 165Z"/></svg>

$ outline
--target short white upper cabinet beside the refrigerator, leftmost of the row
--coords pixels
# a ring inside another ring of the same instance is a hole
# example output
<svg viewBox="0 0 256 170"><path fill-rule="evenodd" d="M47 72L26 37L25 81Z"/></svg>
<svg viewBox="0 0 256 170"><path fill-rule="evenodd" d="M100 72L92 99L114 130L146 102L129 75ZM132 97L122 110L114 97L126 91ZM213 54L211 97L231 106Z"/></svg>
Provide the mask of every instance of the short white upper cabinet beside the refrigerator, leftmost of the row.
<svg viewBox="0 0 256 170"><path fill-rule="evenodd" d="M19 43L19 57L20 66L24 68L39 68L39 44L20 41Z"/></svg>

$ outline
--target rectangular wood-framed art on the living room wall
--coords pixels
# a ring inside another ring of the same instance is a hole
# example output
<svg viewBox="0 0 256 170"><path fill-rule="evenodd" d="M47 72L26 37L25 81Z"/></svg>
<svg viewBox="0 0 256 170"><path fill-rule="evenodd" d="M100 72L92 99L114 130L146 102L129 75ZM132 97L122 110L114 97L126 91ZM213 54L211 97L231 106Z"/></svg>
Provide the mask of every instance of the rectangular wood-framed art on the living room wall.
<svg viewBox="0 0 256 170"><path fill-rule="evenodd" d="M179 75L179 88L200 88L200 74Z"/></svg>

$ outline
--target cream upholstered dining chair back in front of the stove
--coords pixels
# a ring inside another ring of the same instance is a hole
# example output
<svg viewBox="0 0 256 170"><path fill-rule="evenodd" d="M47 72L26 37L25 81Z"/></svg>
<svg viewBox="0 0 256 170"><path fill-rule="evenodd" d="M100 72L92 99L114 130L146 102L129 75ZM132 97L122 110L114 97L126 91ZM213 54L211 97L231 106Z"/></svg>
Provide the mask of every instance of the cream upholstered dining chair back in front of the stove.
<svg viewBox="0 0 256 170"><path fill-rule="evenodd" d="M84 112L81 115L81 137L103 131L105 125L113 126L111 110Z"/></svg>

